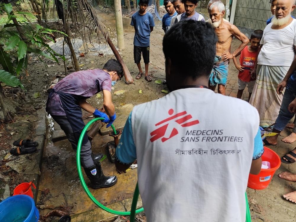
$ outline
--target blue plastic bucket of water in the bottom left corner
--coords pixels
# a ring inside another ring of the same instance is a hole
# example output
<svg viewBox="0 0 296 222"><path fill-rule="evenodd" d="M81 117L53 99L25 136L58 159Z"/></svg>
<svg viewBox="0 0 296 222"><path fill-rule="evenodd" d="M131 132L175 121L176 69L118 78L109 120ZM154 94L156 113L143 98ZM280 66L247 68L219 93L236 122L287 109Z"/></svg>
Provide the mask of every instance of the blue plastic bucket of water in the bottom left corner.
<svg viewBox="0 0 296 222"><path fill-rule="evenodd" d="M28 195L15 195L0 202L1 222L37 222L39 212L33 198Z"/></svg>

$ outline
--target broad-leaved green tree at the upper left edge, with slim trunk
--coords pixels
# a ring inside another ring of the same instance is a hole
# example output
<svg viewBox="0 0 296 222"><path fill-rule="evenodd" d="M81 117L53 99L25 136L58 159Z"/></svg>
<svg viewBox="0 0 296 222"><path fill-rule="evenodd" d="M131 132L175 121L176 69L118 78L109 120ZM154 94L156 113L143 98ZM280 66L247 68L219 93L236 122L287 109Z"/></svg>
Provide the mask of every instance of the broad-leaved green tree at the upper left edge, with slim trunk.
<svg viewBox="0 0 296 222"><path fill-rule="evenodd" d="M65 61L63 55L57 54L46 44L46 41L54 42L54 34L65 35L65 33L32 24L31 20L36 21L32 13L14 11L11 4L0 3L0 12L6 14L0 21L2 24L0 25L0 83L3 82L12 87L20 86L24 89L18 77L22 70L27 73L30 53L37 54L41 62L44 62L41 56L55 62L59 62L58 57ZM0 84L0 105L4 120L8 121L8 111L5 108L3 96Z"/></svg>

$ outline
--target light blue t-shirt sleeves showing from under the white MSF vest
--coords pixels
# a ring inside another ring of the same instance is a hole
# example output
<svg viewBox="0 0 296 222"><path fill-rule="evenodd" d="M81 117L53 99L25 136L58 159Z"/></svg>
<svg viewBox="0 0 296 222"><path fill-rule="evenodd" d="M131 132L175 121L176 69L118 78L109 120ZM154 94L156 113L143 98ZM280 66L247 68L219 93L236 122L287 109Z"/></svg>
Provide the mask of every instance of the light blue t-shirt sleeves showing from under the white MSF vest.
<svg viewBox="0 0 296 222"><path fill-rule="evenodd" d="M133 163L137 158L136 145L133 140L133 130L131 123L131 114L126 120L126 125L122 131L119 144L116 148L116 158L119 162L124 164ZM261 139L261 131L258 128L258 132L254 138L254 151L253 151L253 160L256 160L262 156L264 152L263 142Z"/></svg>

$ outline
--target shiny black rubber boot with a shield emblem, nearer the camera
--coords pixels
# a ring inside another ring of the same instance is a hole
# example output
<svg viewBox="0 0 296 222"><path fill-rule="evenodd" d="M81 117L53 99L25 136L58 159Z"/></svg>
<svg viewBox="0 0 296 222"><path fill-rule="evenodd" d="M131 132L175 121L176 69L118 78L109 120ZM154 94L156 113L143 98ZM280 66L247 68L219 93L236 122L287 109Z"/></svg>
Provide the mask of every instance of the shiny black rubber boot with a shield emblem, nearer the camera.
<svg viewBox="0 0 296 222"><path fill-rule="evenodd" d="M91 188L99 189L103 187L110 187L116 184L117 177L116 176L104 176L101 163L97 162L95 165L84 168L86 176L91 181Z"/></svg>

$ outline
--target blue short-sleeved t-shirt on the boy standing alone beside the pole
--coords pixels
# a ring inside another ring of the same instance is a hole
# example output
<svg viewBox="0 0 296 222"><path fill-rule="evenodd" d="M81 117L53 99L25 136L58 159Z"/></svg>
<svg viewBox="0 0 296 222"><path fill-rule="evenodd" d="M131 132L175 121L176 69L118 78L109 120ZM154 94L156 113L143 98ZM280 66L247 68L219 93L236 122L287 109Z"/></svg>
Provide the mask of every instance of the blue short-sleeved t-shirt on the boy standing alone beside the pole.
<svg viewBox="0 0 296 222"><path fill-rule="evenodd" d="M131 17L131 25L135 27L133 44L148 47L150 45L150 27L155 26L151 13L146 12L145 15L140 15L139 12L136 12Z"/></svg>

